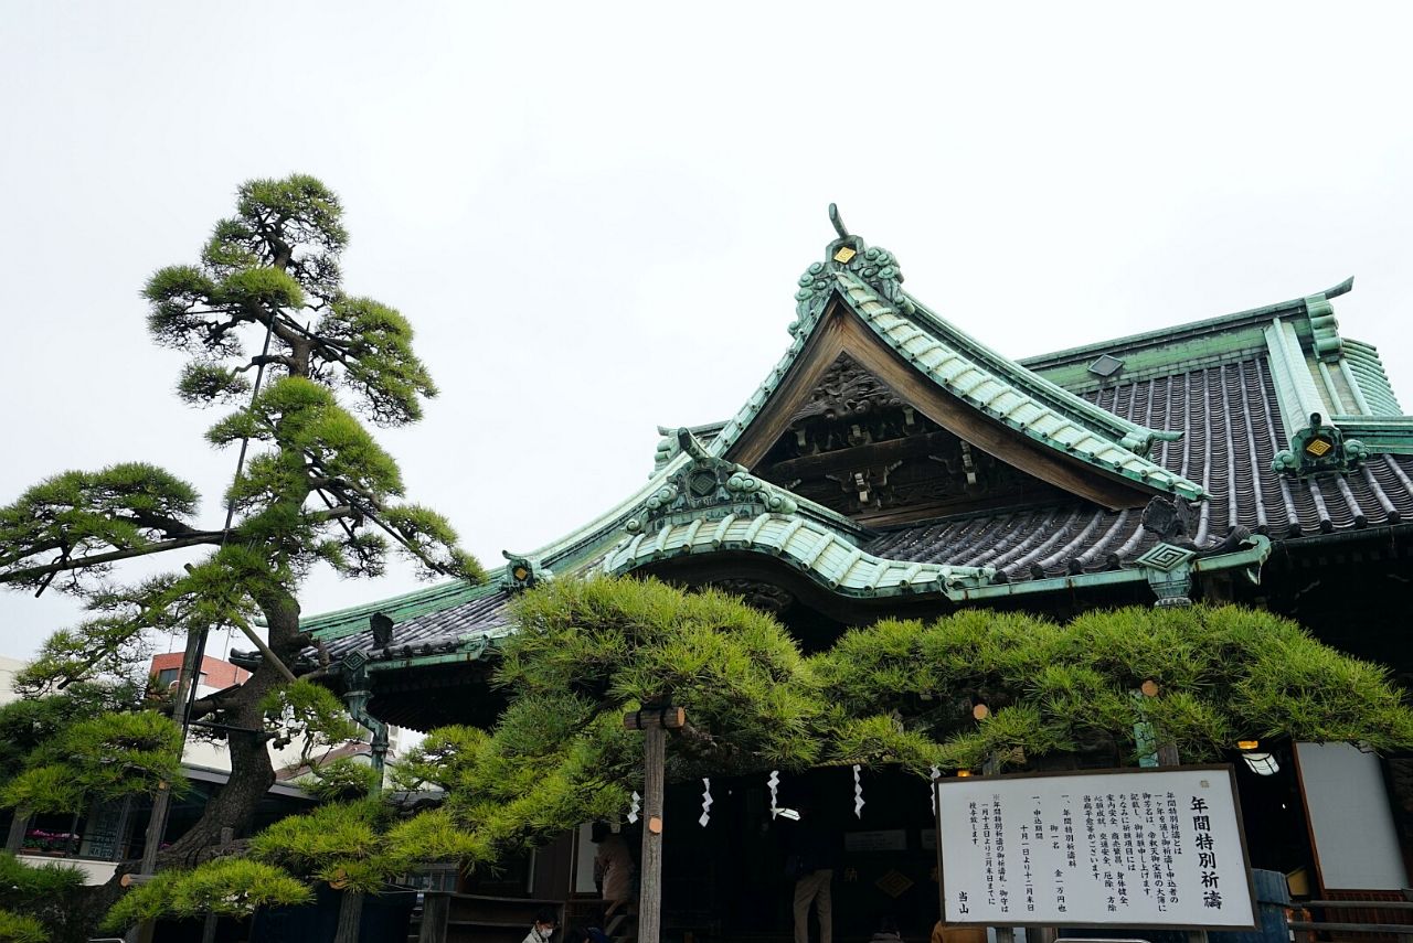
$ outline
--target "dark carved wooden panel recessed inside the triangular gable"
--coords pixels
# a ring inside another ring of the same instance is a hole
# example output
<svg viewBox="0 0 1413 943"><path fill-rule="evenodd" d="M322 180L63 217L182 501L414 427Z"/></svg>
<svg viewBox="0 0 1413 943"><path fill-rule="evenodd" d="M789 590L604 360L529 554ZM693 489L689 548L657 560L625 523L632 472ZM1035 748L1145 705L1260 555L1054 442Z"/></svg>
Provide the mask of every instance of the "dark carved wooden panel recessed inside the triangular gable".
<svg viewBox="0 0 1413 943"><path fill-rule="evenodd" d="M848 353L796 407L756 472L868 524L1056 497L924 416Z"/></svg>

